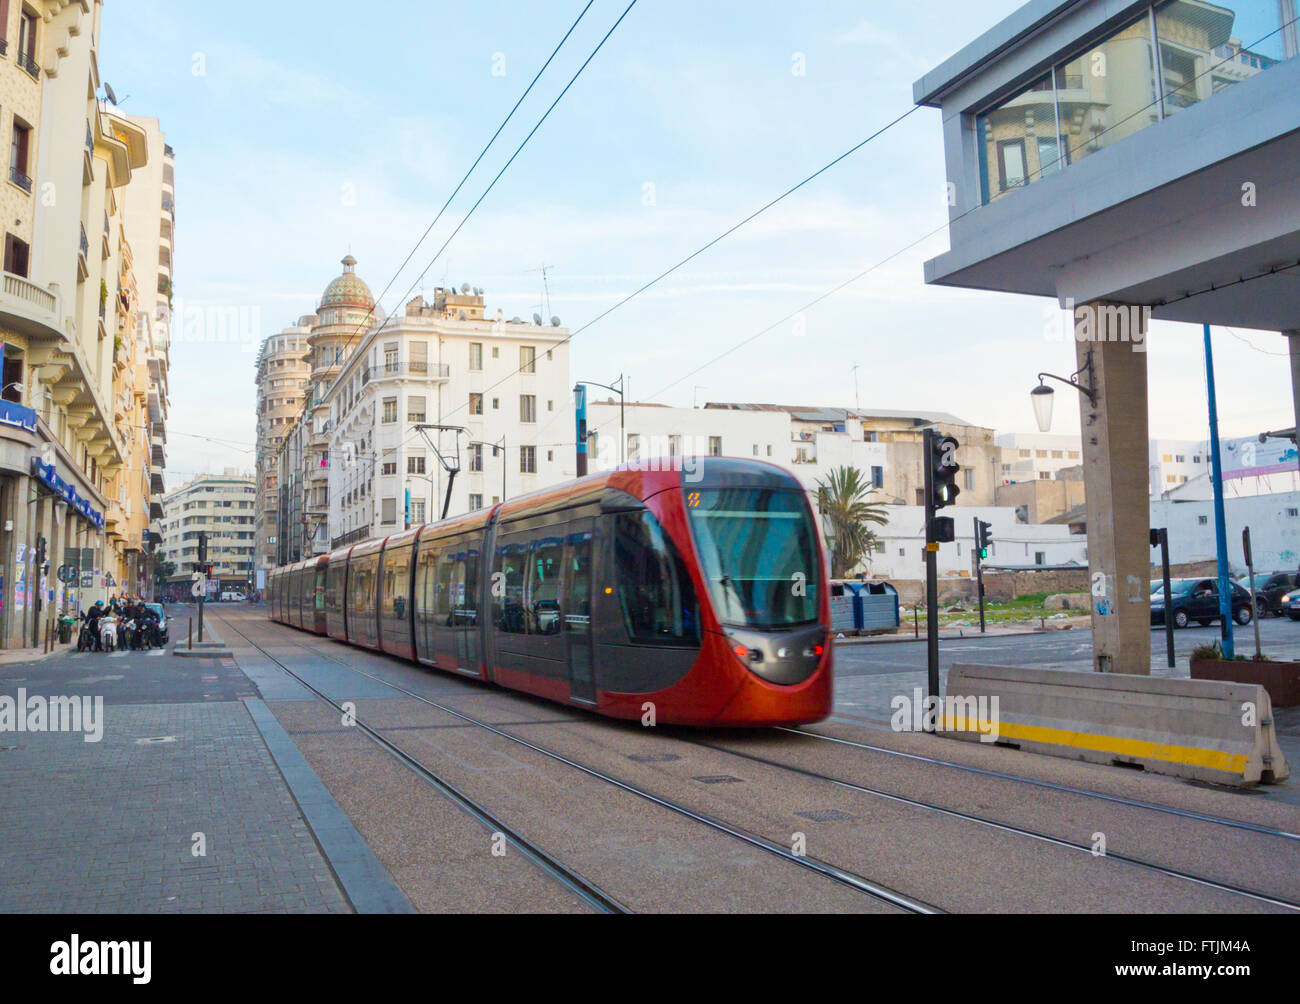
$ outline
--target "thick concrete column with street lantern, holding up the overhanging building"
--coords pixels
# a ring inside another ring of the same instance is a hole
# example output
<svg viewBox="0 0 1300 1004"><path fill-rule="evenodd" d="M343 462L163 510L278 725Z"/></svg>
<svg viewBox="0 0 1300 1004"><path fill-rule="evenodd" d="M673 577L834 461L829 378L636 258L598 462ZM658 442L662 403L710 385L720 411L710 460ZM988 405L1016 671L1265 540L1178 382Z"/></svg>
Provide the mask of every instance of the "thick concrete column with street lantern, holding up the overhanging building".
<svg viewBox="0 0 1300 1004"><path fill-rule="evenodd" d="M1145 312L1091 303L1091 338L1076 341L1080 369L1089 356L1096 404L1079 395L1083 480L1092 581L1092 665L1097 672L1150 674L1150 497L1148 480ZM1078 315L1076 315L1078 323ZM1136 338L1135 338L1136 336Z"/></svg>

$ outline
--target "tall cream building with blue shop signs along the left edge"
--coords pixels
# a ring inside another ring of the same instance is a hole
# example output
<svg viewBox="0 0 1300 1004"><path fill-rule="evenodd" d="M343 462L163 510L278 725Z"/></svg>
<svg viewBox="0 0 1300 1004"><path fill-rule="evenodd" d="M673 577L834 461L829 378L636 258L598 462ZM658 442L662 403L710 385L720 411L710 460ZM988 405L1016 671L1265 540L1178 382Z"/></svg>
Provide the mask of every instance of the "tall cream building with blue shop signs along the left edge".
<svg viewBox="0 0 1300 1004"><path fill-rule="evenodd" d="M65 607L146 592L150 579L157 463L146 416L156 394L162 417L165 355L164 365L151 362L155 280L140 276L126 228L129 205L159 196L133 185L150 163L148 130L95 96L100 13L99 0L0 3L0 129L10 151L0 181L6 648L39 644ZM69 583L60 568L75 572Z"/></svg>

